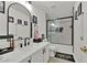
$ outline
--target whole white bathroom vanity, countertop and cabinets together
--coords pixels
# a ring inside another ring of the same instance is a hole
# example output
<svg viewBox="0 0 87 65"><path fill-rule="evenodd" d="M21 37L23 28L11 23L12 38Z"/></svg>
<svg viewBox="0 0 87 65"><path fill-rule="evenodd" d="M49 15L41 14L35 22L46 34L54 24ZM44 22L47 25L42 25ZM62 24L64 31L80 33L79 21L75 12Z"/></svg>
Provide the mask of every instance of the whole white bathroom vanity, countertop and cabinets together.
<svg viewBox="0 0 87 65"><path fill-rule="evenodd" d="M50 54L48 42L32 43L22 48L0 55L0 63L46 63Z"/></svg>

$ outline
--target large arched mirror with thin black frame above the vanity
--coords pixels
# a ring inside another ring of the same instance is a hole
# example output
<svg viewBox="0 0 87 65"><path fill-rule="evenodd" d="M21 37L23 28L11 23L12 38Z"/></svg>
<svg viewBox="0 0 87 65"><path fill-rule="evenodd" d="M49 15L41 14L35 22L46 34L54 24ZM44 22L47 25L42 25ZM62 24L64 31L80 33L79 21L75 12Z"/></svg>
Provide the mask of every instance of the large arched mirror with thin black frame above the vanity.
<svg viewBox="0 0 87 65"><path fill-rule="evenodd" d="M12 3L8 8L8 29L7 34L13 35L14 40L21 37L21 46L25 45L24 40L31 36L31 13L30 11L20 3ZM15 43L14 43L15 44ZM17 44L15 44L17 45ZM19 44L18 44L19 45Z"/></svg>

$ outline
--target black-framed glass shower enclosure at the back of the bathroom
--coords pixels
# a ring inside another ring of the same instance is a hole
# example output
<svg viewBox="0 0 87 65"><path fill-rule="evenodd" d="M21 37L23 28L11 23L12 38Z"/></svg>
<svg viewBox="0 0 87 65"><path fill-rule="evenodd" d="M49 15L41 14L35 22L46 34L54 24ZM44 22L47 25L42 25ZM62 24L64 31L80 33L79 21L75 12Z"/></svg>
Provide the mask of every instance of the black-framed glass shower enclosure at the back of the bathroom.
<svg viewBox="0 0 87 65"><path fill-rule="evenodd" d="M47 41L53 44L73 45L73 17L47 20Z"/></svg>

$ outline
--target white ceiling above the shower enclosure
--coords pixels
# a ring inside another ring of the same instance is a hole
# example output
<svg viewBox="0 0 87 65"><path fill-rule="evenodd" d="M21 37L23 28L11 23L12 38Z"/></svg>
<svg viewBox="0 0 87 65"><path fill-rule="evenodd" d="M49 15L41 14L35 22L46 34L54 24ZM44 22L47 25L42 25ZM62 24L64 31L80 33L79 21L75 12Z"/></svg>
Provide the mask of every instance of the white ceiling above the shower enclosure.
<svg viewBox="0 0 87 65"><path fill-rule="evenodd" d="M32 6L45 11L47 18L62 18L73 14L74 1L32 1Z"/></svg>

